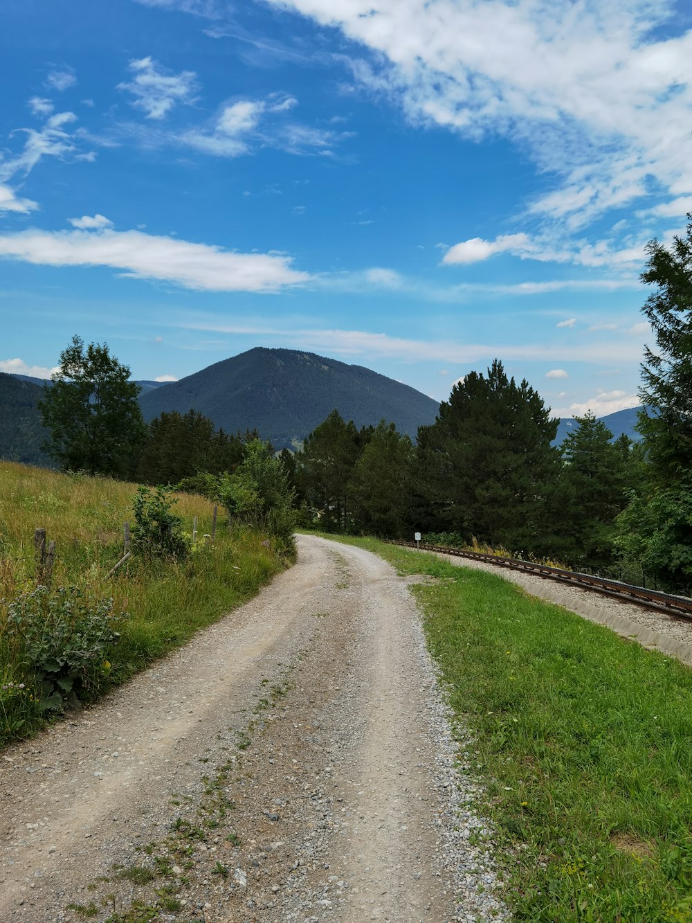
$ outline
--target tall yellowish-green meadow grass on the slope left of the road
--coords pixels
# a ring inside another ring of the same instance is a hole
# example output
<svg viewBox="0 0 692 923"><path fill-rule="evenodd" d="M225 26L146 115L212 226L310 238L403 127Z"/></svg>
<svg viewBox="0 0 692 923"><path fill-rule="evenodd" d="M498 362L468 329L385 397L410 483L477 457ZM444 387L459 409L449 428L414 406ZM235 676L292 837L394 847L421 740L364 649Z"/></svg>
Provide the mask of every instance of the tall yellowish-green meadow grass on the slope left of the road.
<svg viewBox="0 0 692 923"><path fill-rule="evenodd" d="M108 578L124 553L123 528L125 521L133 523L136 490L105 478L0 462L0 745L29 735L50 716L25 663L26 644L9 617L13 600L36 588L35 529L45 529L47 540L56 543L54 588L78 588L93 601L113 599L113 614L128 616L117 620L120 638L104 651L105 666L81 690L87 701L245 602L285 566L263 544L266 536L230 529L222 509L211 544L204 536L211 533L212 504L180 494L174 511L183 517L190 542L197 516L189 556L133 555Z"/></svg>

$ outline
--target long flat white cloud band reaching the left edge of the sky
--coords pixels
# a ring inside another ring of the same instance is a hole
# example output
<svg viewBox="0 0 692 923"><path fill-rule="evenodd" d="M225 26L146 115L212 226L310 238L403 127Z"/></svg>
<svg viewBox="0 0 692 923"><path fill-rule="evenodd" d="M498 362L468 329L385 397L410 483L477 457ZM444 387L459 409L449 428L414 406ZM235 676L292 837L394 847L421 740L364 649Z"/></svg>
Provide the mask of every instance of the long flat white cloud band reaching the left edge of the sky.
<svg viewBox="0 0 692 923"><path fill-rule="evenodd" d="M277 292L310 280L281 254L234 253L141 231L0 234L0 257L42 266L107 266L138 279L211 292Z"/></svg>

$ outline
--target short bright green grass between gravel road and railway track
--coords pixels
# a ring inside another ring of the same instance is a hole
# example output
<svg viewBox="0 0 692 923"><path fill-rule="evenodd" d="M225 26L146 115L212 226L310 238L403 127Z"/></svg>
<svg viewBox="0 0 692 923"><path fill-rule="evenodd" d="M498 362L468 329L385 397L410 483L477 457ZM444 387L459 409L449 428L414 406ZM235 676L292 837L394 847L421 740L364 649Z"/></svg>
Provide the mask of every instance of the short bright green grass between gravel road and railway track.
<svg viewBox="0 0 692 923"><path fill-rule="evenodd" d="M353 544L446 579L414 592L516 918L692 920L690 670L494 574Z"/></svg>

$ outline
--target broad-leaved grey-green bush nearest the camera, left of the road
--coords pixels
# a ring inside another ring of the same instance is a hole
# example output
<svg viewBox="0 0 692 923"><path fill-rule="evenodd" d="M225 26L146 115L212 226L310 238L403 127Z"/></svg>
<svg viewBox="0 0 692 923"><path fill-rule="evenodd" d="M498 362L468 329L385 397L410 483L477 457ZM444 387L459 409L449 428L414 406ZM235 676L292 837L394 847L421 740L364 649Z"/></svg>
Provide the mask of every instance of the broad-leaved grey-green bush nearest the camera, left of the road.
<svg viewBox="0 0 692 923"><path fill-rule="evenodd" d="M112 599L93 598L78 587L38 586L9 604L7 625L18 635L42 711L62 711L98 689L111 673L106 653L126 617L113 613Z"/></svg>

